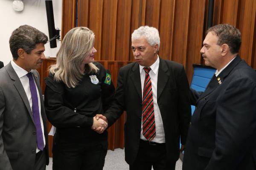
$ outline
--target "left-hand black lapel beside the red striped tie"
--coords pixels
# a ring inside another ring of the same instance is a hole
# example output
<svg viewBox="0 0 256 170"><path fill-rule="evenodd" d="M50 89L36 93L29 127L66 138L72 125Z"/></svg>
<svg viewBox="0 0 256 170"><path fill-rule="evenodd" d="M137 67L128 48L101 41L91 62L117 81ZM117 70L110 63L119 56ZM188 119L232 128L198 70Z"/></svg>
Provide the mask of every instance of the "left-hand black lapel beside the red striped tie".
<svg viewBox="0 0 256 170"><path fill-rule="evenodd" d="M134 66L131 68L131 81L134 84L136 91L140 95L142 99L142 91L141 91L141 81L140 81L140 67L138 63L135 63Z"/></svg>

